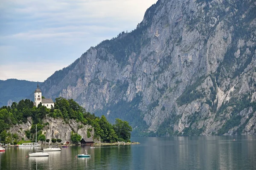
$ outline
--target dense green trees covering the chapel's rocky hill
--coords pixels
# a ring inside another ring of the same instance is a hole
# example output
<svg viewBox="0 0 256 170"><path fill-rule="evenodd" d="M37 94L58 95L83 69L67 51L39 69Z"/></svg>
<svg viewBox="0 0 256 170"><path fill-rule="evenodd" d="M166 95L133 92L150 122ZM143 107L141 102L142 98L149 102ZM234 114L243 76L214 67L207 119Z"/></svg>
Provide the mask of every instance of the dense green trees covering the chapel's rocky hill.
<svg viewBox="0 0 256 170"><path fill-rule="evenodd" d="M124 131L116 133L114 126L110 124L105 116L101 118L96 117L94 114L86 112L84 108L79 106L73 99L56 98L55 108L47 109L47 107L41 104L35 107L33 102L29 99L21 100L18 104L13 102L11 107L3 106L0 108L0 135L1 140L4 142L13 143L11 137L12 134L8 134L7 130L15 124L23 124L27 122L28 118L32 118L32 127L30 130L25 130L26 137L29 140L35 140L35 128L37 125L37 138L40 141L47 141L45 136L42 135L42 130L49 123L44 124L43 119L47 117L63 118L65 123L68 123L70 119L74 119L77 122L81 122L79 129L88 124L94 128L94 138L100 138L102 142L115 142L115 141L129 141L131 137L131 127L127 121L119 119L119 127ZM83 125L84 124L84 125ZM91 128L87 130L87 137L90 138ZM15 135L15 134L14 134ZM16 134L17 135L17 134ZM15 136L16 136L15 135ZM73 143L80 142L79 134L73 132L71 135L71 141ZM57 139L52 139L55 143ZM61 142L61 141L58 141Z"/></svg>

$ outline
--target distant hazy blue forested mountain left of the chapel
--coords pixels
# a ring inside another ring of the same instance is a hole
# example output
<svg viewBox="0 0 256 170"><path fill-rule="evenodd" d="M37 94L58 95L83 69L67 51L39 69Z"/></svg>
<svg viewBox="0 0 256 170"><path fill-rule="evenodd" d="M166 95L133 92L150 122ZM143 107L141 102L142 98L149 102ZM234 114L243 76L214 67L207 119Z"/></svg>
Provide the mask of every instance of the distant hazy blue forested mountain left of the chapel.
<svg viewBox="0 0 256 170"><path fill-rule="evenodd" d="M41 85L41 82L17 79L0 80L0 107L27 98L33 91L35 91L37 84Z"/></svg>

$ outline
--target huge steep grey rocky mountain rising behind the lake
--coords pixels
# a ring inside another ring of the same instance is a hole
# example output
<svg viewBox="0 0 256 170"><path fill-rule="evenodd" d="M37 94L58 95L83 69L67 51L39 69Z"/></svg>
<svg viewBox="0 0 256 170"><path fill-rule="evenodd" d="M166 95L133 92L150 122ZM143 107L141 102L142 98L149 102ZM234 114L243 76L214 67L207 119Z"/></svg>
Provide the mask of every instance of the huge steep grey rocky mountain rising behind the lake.
<svg viewBox="0 0 256 170"><path fill-rule="evenodd" d="M255 134L255 11L253 0L158 0L42 92L129 121L133 135Z"/></svg>

